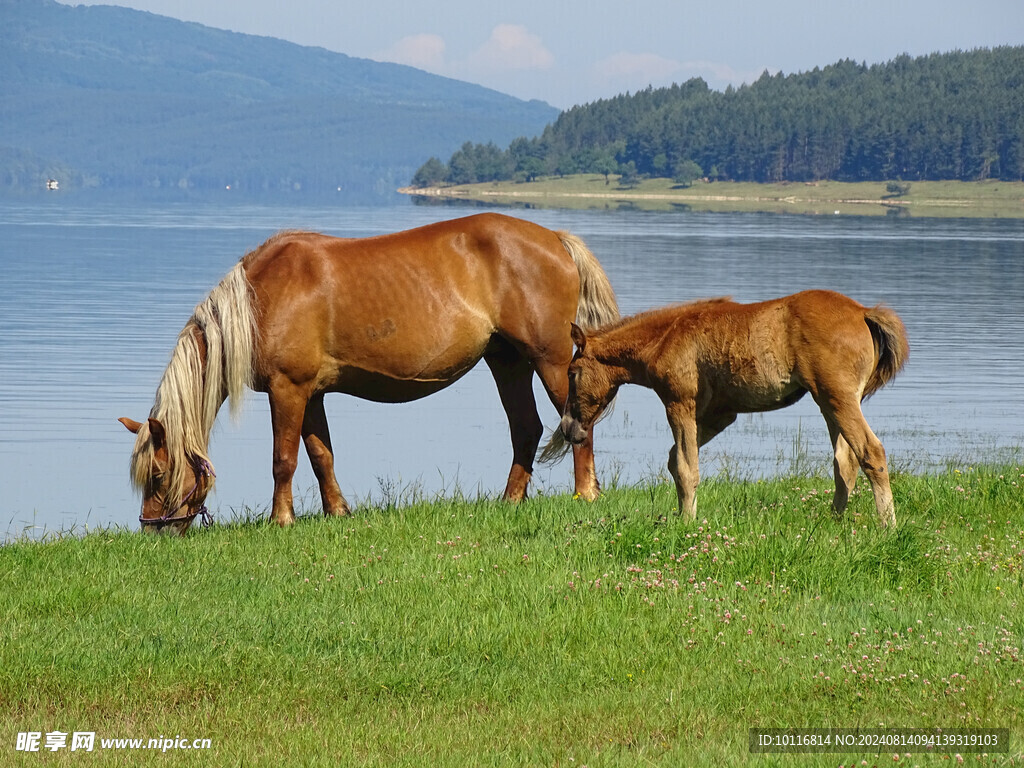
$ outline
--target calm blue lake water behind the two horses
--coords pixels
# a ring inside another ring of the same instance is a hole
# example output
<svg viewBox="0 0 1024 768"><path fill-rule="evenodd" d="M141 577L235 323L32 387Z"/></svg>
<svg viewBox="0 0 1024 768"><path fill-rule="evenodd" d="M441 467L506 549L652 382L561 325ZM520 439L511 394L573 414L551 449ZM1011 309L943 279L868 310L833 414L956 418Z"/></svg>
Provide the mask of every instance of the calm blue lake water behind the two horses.
<svg viewBox="0 0 1024 768"><path fill-rule="evenodd" d="M402 205L43 207L0 205L0 536L137 526L133 436L191 308L248 250L281 228L361 237L470 213ZM519 210L583 237L624 312L731 295L757 301L828 288L903 317L911 355L865 414L895 469L1019 461L1024 445L1024 221ZM546 398L542 418L558 415ZM338 477L350 502L457 490L496 495L511 461L484 366L415 403L327 398ZM649 390L626 387L597 432L603 482L665 473L671 442ZM222 412L211 457L223 517L270 500L265 395ZM828 468L814 403L740 417L706 446L705 476ZM534 493L570 487L570 462L540 469ZM305 457L297 499L318 504Z"/></svg>

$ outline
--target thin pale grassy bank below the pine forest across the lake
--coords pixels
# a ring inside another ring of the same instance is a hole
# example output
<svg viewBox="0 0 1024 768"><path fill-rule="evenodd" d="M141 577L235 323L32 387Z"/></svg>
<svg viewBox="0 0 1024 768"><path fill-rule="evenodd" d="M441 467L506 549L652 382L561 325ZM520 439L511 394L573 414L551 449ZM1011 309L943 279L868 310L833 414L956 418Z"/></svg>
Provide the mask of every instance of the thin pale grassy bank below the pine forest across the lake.
<svg viewBox="0 0 1024 768"><path fill-rule="evenodd" d="M428 198L483 201L541 208L625 208L651 211L766 211L818 215L918 217L1024 217L1024 182L913 181L906 195L893 197L883 181L758 184L697 182L680 187L671 179L644 179L622 186L612 176L579 175L528 183L482 184L402 189Z"/></svg>

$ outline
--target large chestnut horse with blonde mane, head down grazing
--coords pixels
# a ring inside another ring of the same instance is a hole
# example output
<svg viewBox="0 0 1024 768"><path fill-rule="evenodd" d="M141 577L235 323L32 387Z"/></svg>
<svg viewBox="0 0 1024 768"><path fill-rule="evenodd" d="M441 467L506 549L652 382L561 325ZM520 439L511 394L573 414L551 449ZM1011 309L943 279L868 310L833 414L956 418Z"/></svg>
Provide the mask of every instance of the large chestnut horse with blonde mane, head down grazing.
<svg viewBox="0 0 1024 768"><path fill-rule="evenodd" d="M505 498L526 494L543 426L536 371L559 411L568 394L570 324L618 317L604 270L567 233L493 213L365 240L282 232L247 254L178 336L131 476L143 528L183 534L213 484L207 449L223 401L266 392L273 427L272 520L294 521L292 476L305 443L324 513L349 511L334 474L326 392L404 402L442 389L482 357L509 419ZM590 436L575 490L598 494Z"/></svg>

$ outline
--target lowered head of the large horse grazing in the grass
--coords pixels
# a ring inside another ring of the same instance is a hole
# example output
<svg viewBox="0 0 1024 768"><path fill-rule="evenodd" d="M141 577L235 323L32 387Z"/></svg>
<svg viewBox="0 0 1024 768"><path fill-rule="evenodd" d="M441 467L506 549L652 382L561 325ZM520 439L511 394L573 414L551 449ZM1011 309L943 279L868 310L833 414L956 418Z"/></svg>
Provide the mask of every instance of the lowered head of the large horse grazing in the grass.
<svg viewBox="0 0 1024 768"><path fill-rule="evenodd" d="M206 459L176 459L168 447L164 425L118 419L136 435L131 458L132 482L142 493L138 516L143 531L184 536L197 516L209 522L206 496L213 487L213 467Z"/></svg>

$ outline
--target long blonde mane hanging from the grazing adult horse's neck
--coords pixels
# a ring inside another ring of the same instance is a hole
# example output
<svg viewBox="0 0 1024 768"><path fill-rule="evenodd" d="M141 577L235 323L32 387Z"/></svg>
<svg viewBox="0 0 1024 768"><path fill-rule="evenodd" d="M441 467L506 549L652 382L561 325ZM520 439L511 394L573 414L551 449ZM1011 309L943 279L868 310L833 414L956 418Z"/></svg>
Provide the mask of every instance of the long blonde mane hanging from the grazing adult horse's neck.
<svg viewBox="0 0 1024 768"><path fill-rule="evenodd" d="M231 413L238 415L245 388L252 386L256 319L244 263L245 259L234 265L178 334L150 412L167 434L166 499L171 505L188 490L184 487L188 462L209 461L210 431L224 398L230 399ZM201 342L206 346L205 365ZM143 423L130 465L136 487L150 481L153 459L150 425Z"/></svg>

